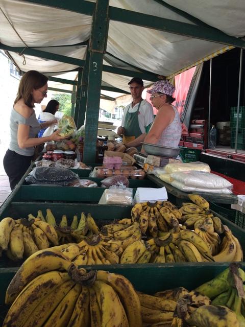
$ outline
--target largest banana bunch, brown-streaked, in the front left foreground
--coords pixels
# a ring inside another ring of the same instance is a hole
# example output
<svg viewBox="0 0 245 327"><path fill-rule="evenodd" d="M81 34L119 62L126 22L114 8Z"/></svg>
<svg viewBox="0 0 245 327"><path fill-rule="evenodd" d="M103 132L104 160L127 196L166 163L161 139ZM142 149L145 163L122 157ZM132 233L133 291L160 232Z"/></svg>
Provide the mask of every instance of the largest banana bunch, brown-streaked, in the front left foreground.
<svg viewBox="0 0 245 327"><path fill-rule="evenodd" d="M11 307L4 327L142 326L140 301L127 278L78 269L60 249L34 253L17 271L6 292Z"/></svg>

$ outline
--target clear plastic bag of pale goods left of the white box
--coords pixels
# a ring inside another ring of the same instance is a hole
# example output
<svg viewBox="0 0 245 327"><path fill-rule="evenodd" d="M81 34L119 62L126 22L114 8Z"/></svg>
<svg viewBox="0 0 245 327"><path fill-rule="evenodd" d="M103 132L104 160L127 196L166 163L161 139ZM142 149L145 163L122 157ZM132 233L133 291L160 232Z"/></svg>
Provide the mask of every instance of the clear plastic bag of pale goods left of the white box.
<svg viewBox="0 0 245 327"><path fill-rule="evenodd" d="M111 186L106 189L99 201L99 204L123 204L130 205L133 201L133 189L125 186Z"/></svg>

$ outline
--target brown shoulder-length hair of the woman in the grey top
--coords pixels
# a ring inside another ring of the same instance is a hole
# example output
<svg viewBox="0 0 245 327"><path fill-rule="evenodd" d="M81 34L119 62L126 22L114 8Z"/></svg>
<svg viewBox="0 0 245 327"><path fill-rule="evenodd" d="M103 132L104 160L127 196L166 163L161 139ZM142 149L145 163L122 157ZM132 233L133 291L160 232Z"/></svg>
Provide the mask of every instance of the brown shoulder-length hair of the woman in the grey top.
<svg viewBox="0 0 245 327"><path fill-rule="evenodd" d="M30 107L33 108L33 98L32 98L32 91L33 89L38 89L45 85L48 81L48 78L37 72L37 71L29 71L27 73L24 73L24 75L21 77L21 80L19 82L17 97L14 100L14 104L19 101L19 99L23 99L24 103Z"/></svg>

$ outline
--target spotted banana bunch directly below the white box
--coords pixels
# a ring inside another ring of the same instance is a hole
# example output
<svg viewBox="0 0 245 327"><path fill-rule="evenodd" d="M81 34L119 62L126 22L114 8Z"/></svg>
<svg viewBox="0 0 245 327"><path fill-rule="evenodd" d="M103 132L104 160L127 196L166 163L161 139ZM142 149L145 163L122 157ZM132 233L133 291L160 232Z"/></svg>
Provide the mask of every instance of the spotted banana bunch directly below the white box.
<svg viewBox="0 0 245 327"><path fill-rule="evenodd" d="M179 209L169 201L136 203L131 211L132 220L139 223L141 232L157 237L159 231L168 231L182 217Z"/></svg>

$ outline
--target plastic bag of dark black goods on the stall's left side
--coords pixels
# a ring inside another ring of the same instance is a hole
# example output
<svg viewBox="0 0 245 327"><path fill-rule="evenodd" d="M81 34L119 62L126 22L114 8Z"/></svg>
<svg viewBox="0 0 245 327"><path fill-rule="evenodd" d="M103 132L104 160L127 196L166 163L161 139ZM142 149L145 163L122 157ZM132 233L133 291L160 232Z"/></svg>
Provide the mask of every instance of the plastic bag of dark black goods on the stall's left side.
<svg viewBox="0 0 245 327"><path fill-rule="evenodd" d="M26 182L28 184L55 183L62 186L66 186L71 181L74 181L76 179L79 180L79 176L66 168L36 167L26 177Z"/></svg>

